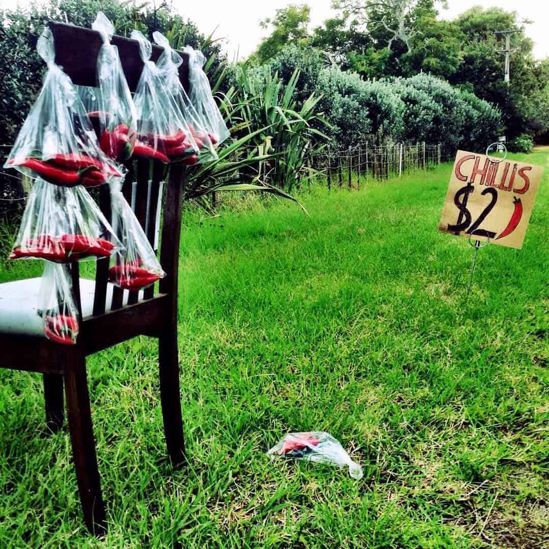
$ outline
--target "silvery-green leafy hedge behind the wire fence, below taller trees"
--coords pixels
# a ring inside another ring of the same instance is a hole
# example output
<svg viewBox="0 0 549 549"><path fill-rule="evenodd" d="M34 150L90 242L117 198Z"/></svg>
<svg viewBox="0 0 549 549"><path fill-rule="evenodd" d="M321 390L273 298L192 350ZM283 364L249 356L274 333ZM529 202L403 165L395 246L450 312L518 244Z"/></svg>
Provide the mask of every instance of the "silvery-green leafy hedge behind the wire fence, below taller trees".
<svg viewBox="0 0 549 549"><path fill-rule="evenodd" d="M425 141L447 150L483 150L502 131L498 109L472 93L427 74L390 80L362 80L327 64L312 49L290 47L270 62L286 80L301 70L296 96L322 94L318 108L334 126L342 147L376 142Z"/></svg>

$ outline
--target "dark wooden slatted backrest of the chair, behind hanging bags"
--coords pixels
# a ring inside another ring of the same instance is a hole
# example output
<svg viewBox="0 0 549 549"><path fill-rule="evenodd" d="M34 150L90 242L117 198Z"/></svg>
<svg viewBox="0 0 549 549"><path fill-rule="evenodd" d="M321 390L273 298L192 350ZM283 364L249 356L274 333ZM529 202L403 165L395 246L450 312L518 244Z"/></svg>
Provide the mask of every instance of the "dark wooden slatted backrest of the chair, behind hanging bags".
<svg viewBox="0 0 549 549"><path fill-rule="evenodd" d="M99 32L50 22L55 44L55 63L62 66L75 85L95 87L97 84L97 56L103 44ZM122 69L130 87L135 92L143 61L139 55L139 43L122 36L113 36L111 43L117 48L122 63ZM156 61L163 48L153 44L151 59ZM183 87L188 91L188 55L178 52L183 58L179 74ZM166 278L160 281L160 292L172 294L174 303L177 296L177 265L179 255L179 235L181 231L182 185L185 170L183 167L171 166L170 175L166 181L166 165L158 161L139 159L127 165L126 176L122 192L132 206L137 219L141 223L149 242L155 250L158 249L158 234L160 217L163 219L162 237L160 239L160 263L166 272ZM165 184L166 183L166 184ZM164 191L164 193L163 193ZM163 194L165 200L163 201ZM164 204L164 208L161 205ZM99 206L110 221L110 193L107 186L99 189ZM107 299L107 275L109 260L97 261L96 290L94 296L93 314L101 315L105 312ZM73 285L78 295L79 270L78 264L72 265ZM124 290L127 292L127 290ZM114 288L111 309L122 307L124 291ZM150 299L154 295L154 288L144 290L144 298ZM130 292L128 305L135 304L139 299L138 292Z"/></svg>

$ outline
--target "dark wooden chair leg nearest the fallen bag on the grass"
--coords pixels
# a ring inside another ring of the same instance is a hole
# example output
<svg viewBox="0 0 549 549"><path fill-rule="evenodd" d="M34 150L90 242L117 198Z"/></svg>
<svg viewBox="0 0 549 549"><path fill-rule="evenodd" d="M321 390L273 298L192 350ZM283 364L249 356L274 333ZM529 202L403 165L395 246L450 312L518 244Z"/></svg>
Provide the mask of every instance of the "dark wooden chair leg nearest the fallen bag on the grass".
<svg viewBox="0 0 549 549"><path fill-rule="evenodd" d="M168 456L174 466L183 463L183 421L179 393L179 358L177 354L177 328L167 327L158 340L160 373L160 399Z"/></svg>

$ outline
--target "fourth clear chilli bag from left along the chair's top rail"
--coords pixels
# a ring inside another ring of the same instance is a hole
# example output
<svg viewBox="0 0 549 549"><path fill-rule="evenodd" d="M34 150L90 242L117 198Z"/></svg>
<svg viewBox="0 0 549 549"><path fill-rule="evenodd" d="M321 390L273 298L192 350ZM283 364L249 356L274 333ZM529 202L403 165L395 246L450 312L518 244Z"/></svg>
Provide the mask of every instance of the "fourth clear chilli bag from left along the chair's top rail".
<svg viewBox="0 0 549 549"><path fill-rule="evenodd" d="M171 48L168 39L160 32L153 32L153 38L160 47L164 48L164 52L156 61L156 66L163 71L166 90L175 100L177 108L181 111L194 141L199 147L198 161L205 162L217 159L217 153L204 123L181 84L178 71L179 66L183 63L181 55ZM192 159L187 159L189 164L191 164L190 160Z"/></svg>

